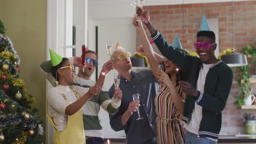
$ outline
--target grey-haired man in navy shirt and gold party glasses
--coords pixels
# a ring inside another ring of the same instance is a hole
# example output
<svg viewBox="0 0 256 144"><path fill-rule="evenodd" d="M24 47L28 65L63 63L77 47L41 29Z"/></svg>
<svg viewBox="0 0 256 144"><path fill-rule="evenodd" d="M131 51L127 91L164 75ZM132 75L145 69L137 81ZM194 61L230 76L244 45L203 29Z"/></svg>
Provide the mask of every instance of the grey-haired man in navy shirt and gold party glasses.
<svg viewBox="0 0 256 144"><path fill-rule="evenodd" d="M117 46L111 56L113 68L120 74L119 87L123 92L120 108L110 117L113 130L125 130L126 142L156 143L156 113L154 99L158 83L151 70L136 73L131 70L131 53ZM114 93L114 84L109 89L109 95ZM132 94L139 94L139 101L133 101ZM143 119L136 120L139 114Z"/></svg>

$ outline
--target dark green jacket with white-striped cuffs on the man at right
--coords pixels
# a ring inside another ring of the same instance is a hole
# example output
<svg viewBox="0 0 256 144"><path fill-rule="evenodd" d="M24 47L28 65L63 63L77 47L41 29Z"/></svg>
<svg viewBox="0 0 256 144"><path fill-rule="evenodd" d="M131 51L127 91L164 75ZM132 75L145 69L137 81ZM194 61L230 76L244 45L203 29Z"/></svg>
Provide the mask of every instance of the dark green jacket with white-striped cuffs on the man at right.
<svg viewBox="0 0 256 144"><path fill-rule="evenodd" d="M196 88L202 67L200 58L186 55L169 45L158 31L152 35L152 38L162 55L187 72L188 82ZM190 120L195 103L202 106L199 136L218 139L222 127L222 111L232 86L232 75L231 68L222 61L218 61L210 67L206 75L204 92L199 92L197 97L187 95L183 111L184 122L187 123Z"/></svg>

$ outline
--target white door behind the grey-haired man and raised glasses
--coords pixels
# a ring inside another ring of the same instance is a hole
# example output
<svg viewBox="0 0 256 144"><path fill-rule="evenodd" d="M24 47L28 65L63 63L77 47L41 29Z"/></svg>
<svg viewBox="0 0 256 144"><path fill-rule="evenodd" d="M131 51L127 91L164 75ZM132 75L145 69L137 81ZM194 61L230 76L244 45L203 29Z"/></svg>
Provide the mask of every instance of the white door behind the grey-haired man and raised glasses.
<svg viewBox="0 0 256 144"><path fill-rule="evenodd" d="M119 43L124 47L126 51L131 52L134 55L136 51L136 29L132 25L133 17L119 18L119 19L106 19L106 20L90 20L89 21L89 47L94 49L96 41L96 29L97 26L97 44L98 44L98 75L102 69L102 66L109 59L106 50L106 41L112 40L112 52L115 49L115 45ZM104 88L107 90L113 85L114 73L117 71L110 71L104 81ZM100 121L103 127L103 136L105 138L124 138L124 131L115 132L109 125L108 113L101 109Z"/></svg>

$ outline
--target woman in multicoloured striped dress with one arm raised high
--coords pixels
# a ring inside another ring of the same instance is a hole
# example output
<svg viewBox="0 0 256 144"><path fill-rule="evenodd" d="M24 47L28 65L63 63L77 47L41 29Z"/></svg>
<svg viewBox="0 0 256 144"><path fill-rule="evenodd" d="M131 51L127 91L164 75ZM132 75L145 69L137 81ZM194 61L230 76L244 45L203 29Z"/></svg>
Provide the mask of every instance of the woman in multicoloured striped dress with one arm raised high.
<svg viewBox="0 0 256 144"><path fill-rule="evenodd" d="M162 56L154 52L150 45L142 23L137 22L138 16L133 19L133 25L139 31L139 39L143 45L138 47L138 52L146 55L152 69L152 73L164 85L155 97L156 114L158 115L158 143L184 143L185 129L182 124L182 113L184 107L185 94L181 92L178 81L184 80L184 75L178 75L176 66L168 59L164 60L165 70L158 71L158 63L163 61ZM178 73L182 73L179 70ZM179 77L178 77L179 76Z"/></svg>

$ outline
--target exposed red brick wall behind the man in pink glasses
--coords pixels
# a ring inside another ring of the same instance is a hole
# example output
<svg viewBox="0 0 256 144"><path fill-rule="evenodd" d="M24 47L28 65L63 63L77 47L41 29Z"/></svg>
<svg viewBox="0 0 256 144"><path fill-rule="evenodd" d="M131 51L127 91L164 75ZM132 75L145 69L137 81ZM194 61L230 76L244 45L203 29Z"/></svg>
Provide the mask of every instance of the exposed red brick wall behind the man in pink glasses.
<svg viewBox="0 0 256 144"><path fill-rule="evenodd" d="M190 51L194 51L193 43L196 33L199 31L202 14L205 14L206 19L217 17L219 19L220 52L232 47L232 43L237 51L240 51L241 47L247 44L253 45L256 41L256 1L234 2L233 6L231 2L225 2L148 6L144 7L144 10L148 11L153 25L170 44L173 42L175 34L179 34L183 49ZM234 31L232 31L232 25L234 25ZM232 32L234 32L234 40L232 40ZM137 44L139 44L139 39ZM255 67L251 69L252 74L255 75ZM256 84L252 84L252 87L256 94ZM237 84L234 82L223 111L223 134L236 134L241 131L241 128L244 127L243 113L256 115L255 110L241 110L240 106L233 105L234 95L238 91ZM235 129L230 130L231 127ZM241 133L243 132L241 131Z"/></svg>

